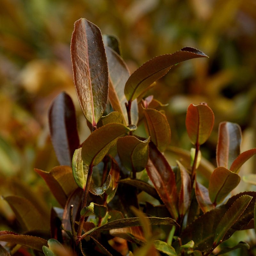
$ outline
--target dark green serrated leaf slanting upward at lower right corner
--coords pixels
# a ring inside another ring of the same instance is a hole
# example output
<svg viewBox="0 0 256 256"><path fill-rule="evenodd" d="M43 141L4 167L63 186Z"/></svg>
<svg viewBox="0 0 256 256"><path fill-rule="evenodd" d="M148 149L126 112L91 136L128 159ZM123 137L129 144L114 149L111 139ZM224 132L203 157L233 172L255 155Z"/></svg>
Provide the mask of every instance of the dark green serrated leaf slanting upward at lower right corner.
<svg viewBox="0 0 256 256"><path fill-rule="evenodd" d="M214 245L217 245L221 242L228 229L238 220L241 214L244 212L252 196L244 195L240 196L228 209L225 215L222 217L214 234Z"/></svg>

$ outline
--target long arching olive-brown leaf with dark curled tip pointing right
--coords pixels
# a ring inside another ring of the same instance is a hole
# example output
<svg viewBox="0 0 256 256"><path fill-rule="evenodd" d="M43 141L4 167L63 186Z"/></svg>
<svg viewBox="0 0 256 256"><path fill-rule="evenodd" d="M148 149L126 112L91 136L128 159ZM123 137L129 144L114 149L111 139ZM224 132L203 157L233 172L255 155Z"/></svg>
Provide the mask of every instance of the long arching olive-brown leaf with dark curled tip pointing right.
<svg viewBox="0 0 256 256"><path fill-rule="evenodd" d="M203 52L185 47L172 54L165 54L144 63L129 77L125 84L124 93L128 101L135 100L151 84L164 76L170 68L184 60L207 57Z"/></svg>

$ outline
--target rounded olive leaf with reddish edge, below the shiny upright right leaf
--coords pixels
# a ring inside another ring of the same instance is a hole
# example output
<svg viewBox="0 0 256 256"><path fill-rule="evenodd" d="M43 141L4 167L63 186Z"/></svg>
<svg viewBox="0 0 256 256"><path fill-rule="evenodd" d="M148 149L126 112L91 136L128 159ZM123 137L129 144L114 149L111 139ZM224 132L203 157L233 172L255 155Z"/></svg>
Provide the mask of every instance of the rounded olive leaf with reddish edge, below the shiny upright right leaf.
<svg viewBox="0 0 256 256"><path fill-rule="evenodd" d="M229 171L225 167L216 168L211 175L208 188L212 203L221 203L236 188L240 180L238 174Z"/></svg>

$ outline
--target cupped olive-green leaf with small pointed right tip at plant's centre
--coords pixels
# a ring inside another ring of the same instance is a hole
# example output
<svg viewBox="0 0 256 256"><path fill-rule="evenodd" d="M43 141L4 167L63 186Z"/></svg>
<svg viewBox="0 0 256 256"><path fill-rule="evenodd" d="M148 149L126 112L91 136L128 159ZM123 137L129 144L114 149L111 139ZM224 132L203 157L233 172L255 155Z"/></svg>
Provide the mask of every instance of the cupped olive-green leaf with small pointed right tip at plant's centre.
<svg viewBox="0 0 256 256"><path fill-rule="evenodd" d="M117 140L117 152L122 165L129 171L140 172L148 163L148 143L133 136L125 136Z"/></svg>

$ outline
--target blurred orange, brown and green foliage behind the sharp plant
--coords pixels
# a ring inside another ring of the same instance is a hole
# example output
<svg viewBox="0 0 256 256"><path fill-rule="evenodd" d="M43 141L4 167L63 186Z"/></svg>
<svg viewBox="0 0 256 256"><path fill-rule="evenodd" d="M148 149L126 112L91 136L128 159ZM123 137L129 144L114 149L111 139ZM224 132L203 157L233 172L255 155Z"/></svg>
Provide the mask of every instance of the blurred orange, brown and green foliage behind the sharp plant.
<svg viewBox="0 0 256 256"><path fill-rule="evenodd" d="M49 139L47 111L61 91L74 100L80 142L88 135L70 60L74 22L81 17L120 39L131 72L185 46L209 56L173 67L149 92L168 103L164 110L171 145L190 149L186 110L190 103L207 102L215 125L202 146L203 156L215 164L221 121L241 125L242 151L256 147L255 0L1 0L0 194L24 194L26 188L52 202L33 168L49 171L59 165ZM242 172L254 172L255 167L252 159ZM241 184L240 191L246 188ZM14 221L3 200L0 216Z"/></svg>

